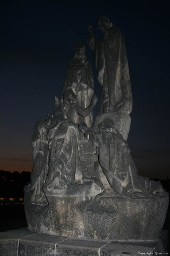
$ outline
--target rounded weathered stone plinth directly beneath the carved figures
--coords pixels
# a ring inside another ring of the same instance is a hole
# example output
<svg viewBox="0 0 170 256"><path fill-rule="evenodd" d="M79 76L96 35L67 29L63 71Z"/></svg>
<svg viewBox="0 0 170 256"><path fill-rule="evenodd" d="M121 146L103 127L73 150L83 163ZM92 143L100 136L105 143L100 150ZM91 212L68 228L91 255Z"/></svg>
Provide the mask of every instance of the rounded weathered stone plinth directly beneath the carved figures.
<svg viewBox="0 0 170 256"><path fill-rule="evenodd" d="M48 205L29 203L25 193L28 227L41 233L94 240L154 240L163 227L169 196L104 197L96 180L67 189L45 190ZM98 196L96 196L98 195Z"/></svg>

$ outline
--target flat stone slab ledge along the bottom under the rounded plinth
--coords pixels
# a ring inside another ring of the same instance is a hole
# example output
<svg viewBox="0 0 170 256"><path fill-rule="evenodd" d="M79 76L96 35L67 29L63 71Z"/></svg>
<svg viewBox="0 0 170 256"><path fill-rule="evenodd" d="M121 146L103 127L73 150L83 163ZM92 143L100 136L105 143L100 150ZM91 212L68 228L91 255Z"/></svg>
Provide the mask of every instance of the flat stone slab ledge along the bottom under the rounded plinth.
<svg viewBox="0 0 170 256"><path fill-rule="evenodd" d="M155 252L167 252L167 241L167 230L152 241L94 241L50 236L23 228L0 233L0 256L156 255Z"/></svg>

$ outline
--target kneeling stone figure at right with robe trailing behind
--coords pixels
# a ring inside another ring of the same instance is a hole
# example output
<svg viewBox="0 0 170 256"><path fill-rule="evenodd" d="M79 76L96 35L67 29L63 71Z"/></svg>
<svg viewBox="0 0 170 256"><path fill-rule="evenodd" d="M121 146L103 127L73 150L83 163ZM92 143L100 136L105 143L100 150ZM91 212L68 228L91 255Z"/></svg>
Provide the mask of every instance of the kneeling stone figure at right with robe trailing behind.
<svg viewBox="0 0 170 256"><path fill-rule="evenodd" d="M130 149L122 135L114 128L113 121L106 118L99 124L99 132L79 126L85 137L98 148L99 161L95 170L104 186L104 193L116 191L123 197L153 196L165 193L161 182L138 175Z"/></svg>

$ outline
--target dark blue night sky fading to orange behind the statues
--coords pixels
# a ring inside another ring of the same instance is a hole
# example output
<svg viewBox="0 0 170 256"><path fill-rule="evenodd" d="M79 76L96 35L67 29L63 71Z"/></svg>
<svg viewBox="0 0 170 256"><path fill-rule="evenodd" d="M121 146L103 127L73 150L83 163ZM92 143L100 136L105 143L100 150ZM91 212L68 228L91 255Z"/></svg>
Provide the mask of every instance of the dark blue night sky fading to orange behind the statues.
<svg viewBox="0 0 170 256"><path fill-rule="evenodd" d="M32 170L36 121L51 114L60 97L68 61L83 42L100 97L88 25L102 39L99 16L123 31L133 94L131 155L140 175L170 177L169 1L52 3L4 1L0 40L0 169ZM127 4L128 2L128 4ZM148 3L149 2L149 3ZM124 4L126 3L126 4ZM94 109L94 116L98 104Z"/></svg>

